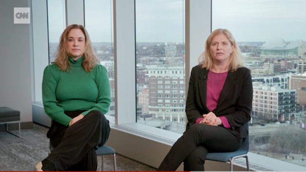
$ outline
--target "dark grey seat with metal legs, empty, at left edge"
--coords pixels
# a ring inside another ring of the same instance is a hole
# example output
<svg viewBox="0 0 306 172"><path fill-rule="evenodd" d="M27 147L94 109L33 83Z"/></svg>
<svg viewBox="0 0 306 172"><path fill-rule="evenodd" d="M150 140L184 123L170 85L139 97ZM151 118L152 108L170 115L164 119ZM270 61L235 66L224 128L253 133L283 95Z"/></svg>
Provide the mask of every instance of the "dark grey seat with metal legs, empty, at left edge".
<svg viewBox="0 0 306 172"><path fill-rule="evenodd" d="M19 123L19 135L8 130L9 123ZM6 131L20 138L20 111L9 108L0 107L0 124L6 125Z"/></svg>

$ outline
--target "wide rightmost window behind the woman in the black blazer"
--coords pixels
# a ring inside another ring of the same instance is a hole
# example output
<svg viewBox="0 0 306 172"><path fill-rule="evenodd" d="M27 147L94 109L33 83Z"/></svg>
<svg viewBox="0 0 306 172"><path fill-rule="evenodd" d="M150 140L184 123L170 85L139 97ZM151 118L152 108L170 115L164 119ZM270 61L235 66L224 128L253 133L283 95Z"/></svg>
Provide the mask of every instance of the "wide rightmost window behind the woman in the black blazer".
<svg viewBox="0 0 306 172"><path fill-rule="evenodd" d="M306 57L305 7L305 0L212 0L212 30L231 31L252 72L250 152L306 167L304 104L287 84Z"/></svg>

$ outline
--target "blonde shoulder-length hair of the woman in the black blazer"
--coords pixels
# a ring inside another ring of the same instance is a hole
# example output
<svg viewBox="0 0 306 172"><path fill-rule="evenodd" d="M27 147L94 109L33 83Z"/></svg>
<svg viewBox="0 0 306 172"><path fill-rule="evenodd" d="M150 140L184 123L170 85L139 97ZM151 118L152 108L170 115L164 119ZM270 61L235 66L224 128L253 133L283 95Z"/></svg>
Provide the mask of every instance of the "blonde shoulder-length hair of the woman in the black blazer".
<svg viewBox="0 0 306 172"><path fill-rule="evenodd" d="M227 29L216 29L210 33L205 42L205 51L202 52L198 58L199 66L201 68L211 69L213 61L210 54L210 43L212 38L218 34L224 34L229 39L230 44L234 45L233 52L229 56L229 70L235 71L236 69L243 67L244 60L241 54L241 50L237 45L233 35Z"/></svg>

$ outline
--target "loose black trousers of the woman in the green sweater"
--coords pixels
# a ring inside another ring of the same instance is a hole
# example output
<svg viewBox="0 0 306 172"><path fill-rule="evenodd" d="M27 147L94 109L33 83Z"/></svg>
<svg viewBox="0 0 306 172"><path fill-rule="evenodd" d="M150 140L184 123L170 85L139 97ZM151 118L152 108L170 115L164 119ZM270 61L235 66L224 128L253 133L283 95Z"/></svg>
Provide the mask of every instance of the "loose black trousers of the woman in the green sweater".
<svg viewBox="0 0 306 172"><path fill-rule="evenodd" d="M65 114L75 118L84 111ZM96 171L95 148L105 144L109 133L109 121L98 110L90 111L69 127L53 121L47 137L54 149L45 159L54 163L56 171Z"/></svg>

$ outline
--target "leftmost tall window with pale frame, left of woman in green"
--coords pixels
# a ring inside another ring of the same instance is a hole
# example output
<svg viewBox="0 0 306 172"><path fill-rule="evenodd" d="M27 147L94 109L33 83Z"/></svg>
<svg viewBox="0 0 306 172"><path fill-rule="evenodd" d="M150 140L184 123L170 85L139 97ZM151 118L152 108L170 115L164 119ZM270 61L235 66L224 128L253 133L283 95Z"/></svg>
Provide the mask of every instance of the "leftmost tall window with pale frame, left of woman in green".
<svg viewBox="0 0 306 172"><path fill-rule="evenodd" d="M65 0L33 0L32 12L35 102L42 103L43 70L55 60L59 36L65 29Z"/></svg>

